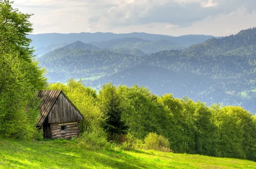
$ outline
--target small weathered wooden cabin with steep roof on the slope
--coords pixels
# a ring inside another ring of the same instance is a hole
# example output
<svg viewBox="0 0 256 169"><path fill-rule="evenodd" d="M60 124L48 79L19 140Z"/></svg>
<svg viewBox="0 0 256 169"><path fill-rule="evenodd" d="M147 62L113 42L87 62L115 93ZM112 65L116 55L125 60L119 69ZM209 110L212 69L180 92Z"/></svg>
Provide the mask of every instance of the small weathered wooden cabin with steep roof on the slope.
<svg viewBox="0 0 256 169"><path fill-rule="evenodd" d="M67 96L61 90L40 90L37 95L41 101L37 127L43 129L44 138L77 137L84 116Z"/></svg>

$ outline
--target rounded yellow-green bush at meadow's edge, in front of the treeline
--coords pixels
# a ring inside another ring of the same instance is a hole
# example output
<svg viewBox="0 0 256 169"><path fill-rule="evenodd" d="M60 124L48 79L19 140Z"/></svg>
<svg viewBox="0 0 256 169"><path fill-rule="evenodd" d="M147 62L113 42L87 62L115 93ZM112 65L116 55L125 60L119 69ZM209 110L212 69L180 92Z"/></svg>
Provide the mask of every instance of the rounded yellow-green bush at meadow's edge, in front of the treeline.
<svg viewBox="0 0 256 169"><path fill-rule="evenodd" d="M171 152L169 140L157 133L148 133L144 139L145 149L154 149L163 152Z"/></svg>

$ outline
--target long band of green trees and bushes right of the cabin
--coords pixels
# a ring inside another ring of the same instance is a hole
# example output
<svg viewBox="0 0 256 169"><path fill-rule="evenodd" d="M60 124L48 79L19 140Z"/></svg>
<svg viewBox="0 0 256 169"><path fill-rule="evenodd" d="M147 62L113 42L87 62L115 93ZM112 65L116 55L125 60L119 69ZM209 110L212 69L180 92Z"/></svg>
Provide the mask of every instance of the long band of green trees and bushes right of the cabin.
<svg viewBox="0 0 256 169"><path fill-rule="evenodd" d="M108 83L96 94L73 79L48 89L63 90L85 116L78 143L88 149L171 149L256 160L255 116L239 106L209 107L172 94L158 97L137 85L116 88Z"/></svg>

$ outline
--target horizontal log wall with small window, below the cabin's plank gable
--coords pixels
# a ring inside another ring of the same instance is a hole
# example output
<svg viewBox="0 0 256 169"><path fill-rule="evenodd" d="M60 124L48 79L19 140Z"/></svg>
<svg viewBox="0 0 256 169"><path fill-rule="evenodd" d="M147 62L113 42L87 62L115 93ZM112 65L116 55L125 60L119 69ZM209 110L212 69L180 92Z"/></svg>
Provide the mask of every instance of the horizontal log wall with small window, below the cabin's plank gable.
<svg viewBox="0 0 256 169"><path fill-rule="evenodd" d="M52 138L64 138L78 137L80 133L79 121L65 122L65 123L53 123L52 125ZM61 130L61 126L63 128Z"/></svg>

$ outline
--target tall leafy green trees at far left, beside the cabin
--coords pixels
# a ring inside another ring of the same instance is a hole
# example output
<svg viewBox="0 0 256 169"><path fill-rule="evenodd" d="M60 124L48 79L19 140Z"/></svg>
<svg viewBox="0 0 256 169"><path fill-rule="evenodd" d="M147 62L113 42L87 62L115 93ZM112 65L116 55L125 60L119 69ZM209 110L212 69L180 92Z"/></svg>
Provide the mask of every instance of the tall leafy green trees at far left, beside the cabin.
<svg viewBox="0 0 256 169"><path fill-rule="evenodd" d="M0 137L31 140L38 117L36 106L25 109L36 90L46 84L44 69L32 56L30 14L0 0ZM38 137L37 137L38 138Z"/></svg>

